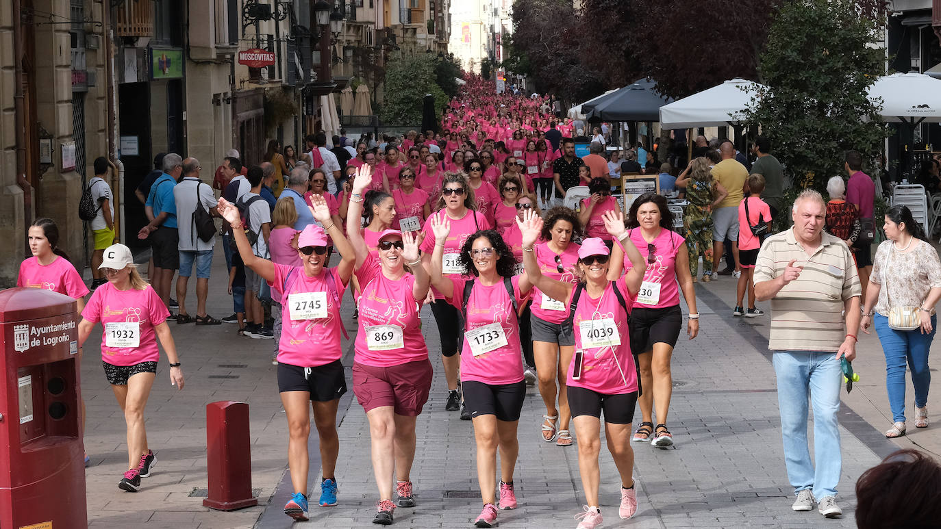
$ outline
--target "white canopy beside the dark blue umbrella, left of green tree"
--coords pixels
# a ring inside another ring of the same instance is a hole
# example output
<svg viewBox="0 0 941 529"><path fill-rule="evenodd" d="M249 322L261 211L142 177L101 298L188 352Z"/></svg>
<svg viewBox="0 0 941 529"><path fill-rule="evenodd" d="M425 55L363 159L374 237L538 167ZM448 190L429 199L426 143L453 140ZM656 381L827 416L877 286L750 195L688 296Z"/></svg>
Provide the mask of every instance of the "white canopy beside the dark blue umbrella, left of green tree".
<svg viewBox="0 0 941 529"><path fill-rule="evenodd" d="M751 104L752 96L761 87L754 81L732 79L688 98L664 104L660 107L660 126L663 129L692 129L737 125Z"/></svg>

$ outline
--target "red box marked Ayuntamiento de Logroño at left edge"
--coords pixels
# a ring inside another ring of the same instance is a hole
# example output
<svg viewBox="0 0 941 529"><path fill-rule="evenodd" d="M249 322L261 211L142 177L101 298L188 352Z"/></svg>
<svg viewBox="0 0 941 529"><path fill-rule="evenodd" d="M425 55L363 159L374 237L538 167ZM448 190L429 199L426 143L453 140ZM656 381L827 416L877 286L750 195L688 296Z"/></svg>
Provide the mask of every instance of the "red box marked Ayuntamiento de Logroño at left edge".
<svg viewBox="0 0 941 529"><path fill-rule="evenodd" d="M0 292L0 527L88 527L75 307Z"/></svg>

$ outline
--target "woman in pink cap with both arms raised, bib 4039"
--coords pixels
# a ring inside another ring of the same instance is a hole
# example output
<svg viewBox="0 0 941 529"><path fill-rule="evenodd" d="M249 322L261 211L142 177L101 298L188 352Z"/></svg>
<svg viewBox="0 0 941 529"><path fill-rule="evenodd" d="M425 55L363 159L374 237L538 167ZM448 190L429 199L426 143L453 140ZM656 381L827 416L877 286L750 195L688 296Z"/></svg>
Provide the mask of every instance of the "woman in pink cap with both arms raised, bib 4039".
<svg viewBox="0 0 941 529"><path fill-rule="evenodd" d="M609 211L605 221L612 236L628 241L623 213ZM544 296L570 307L576 353L567 368L566 385L579 439L579 474L587 501L576 518L582 519L579 529L595 529L601 525L598 454L602 411L608 450L621 477L618 514L626 519L637 512L630 423L639 386L628 337L628 317L644 279L644 257L630 241L624 242L623 250L616 245L612 253L600 239L585 239L579 249L578 265L584 281L578 285L556 281L542 274L534 255L533 245L542 225L542 219L534 214L527 214L520 222L523 263L526 274ZM622 266L629 259L633 266L630 272L621 275Z"/></svg>

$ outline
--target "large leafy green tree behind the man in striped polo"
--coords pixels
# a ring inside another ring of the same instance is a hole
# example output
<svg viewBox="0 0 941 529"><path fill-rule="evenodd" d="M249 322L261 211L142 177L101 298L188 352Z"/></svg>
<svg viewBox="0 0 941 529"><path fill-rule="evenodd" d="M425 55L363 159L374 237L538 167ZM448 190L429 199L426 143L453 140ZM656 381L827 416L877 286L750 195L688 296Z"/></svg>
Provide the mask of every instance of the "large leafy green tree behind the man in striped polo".
<svg viewBox="0 0 941 529"><path fill-rule="evenodd" d="M851 0L794 0L778 11L758 67L766 87L747 115L796 187L824 189L843 174L846 150L880 151L885 128L866 98L884 70L885 51L871 46L879 29Z"/></svg>

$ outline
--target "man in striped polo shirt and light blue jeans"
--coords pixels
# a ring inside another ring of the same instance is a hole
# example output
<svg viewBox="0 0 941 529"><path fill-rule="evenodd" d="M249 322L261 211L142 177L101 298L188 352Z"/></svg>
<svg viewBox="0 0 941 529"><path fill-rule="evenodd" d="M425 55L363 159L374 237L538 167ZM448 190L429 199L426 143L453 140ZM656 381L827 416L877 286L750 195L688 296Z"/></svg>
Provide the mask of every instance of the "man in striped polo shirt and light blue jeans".
<svg viewBox="0 0 941 529"><path fill-rule="evenodd" d="M791 209L794 226L761 245L755 265L755 297L771 300L768 349L774 351L784 458L797 499L795 511L819 501L827 518L837 506L840 357L856 356L862 290L853 254L823 232L826 203L806 190ZM845 318L844 318L845 315ZM814 408L814 455L807 445L807 395Z"/></svg>

